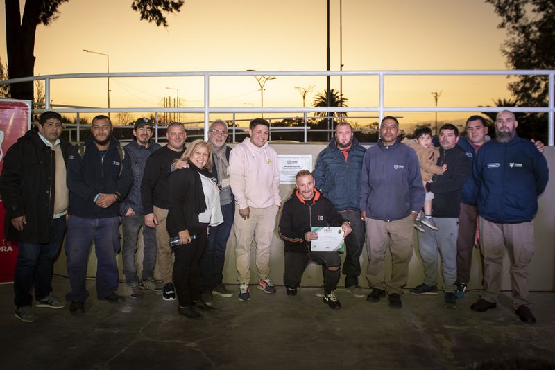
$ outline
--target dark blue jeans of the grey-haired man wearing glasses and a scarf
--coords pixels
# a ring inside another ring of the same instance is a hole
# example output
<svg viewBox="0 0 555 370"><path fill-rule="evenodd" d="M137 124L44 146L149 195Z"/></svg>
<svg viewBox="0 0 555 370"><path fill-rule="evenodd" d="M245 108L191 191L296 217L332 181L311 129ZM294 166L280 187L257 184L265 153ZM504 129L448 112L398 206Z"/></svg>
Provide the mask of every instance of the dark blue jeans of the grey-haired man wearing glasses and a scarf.
<svg viewBox="0 0 555 370"><path fill-rule="evenodd" d="M225 246L228 244L235 202L221 206L223 223L210 227L210 234L206 242L203 258L200 260L201 288L203 292L212 292L212 289L223 281L223 263L225 262Z"/></svg>

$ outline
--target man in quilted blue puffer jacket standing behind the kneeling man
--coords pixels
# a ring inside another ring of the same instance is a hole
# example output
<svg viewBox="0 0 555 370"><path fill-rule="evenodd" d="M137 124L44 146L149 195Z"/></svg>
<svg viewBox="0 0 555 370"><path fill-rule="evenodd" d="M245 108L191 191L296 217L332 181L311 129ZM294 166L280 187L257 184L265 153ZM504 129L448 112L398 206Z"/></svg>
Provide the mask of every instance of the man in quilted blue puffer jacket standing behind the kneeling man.
<svg viewBox="0 0 555 370"><path fill-rule="evenodd" d="M364 152L366 149L355 139L351 125L339 122L335 127L334 139L318 155L314 168L316 187L332 201L341 217L351 224L352 233L345 239L343 274L345 288L359 298L365 295L359 287L360 255L364 243L364 222L360 218L359 208Z"/></svg>

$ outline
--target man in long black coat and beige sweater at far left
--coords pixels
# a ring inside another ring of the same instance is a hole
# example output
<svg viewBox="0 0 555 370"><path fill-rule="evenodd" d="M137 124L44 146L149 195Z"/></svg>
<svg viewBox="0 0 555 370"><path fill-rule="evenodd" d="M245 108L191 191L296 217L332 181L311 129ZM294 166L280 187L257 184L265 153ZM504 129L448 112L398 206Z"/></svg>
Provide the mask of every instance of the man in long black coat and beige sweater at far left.
<svg viewBox="0 0 555 370"><path fill-rule="evenodd" d="M37 130L12 145L3 161L0 190L6 205L6 236L18 241L15 265L15 317L33 322L31 288L37 307L63 308L52 291L53 263L65 230L68 192L65 161L71 150L60 139L62 116L44 112Z"/></svg>

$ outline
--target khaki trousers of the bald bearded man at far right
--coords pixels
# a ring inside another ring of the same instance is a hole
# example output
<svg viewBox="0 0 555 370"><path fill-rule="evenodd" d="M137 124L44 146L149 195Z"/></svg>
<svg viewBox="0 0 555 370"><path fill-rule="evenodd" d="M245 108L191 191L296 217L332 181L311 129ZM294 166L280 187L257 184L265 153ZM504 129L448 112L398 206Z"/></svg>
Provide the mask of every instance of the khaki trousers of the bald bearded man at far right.
<svg viewBox="0 0 555 370"><path fill-rule="evenodd" d="M505 249L509 252L513 308L529 305L528 270L533 256L532 222L496 224L479 218L481 253L484 255L484 292L481 297L494 303L501 287L501 267Z"/></svg>

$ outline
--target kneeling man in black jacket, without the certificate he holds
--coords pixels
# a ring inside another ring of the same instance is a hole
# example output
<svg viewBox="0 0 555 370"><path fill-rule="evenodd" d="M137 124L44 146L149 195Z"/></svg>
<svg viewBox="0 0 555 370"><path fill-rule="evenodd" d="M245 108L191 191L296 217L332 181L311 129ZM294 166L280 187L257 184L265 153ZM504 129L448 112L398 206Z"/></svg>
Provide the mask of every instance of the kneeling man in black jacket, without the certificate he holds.
<svg viewBox="0 0 555 370"><path fill-rule="evenodd" d="M297 294L302 272L310 262L326 267L324 275L323 301L334 310L341 309L341 303L334 290L339 282L341 257L336 251L312 251L311 241L318 234L311 227L339 227L346 237L352 231L350 223L336 211L332 202L314 188L314 177L308 170L300 170L295 179L296 190L283 205L279 233L284 240L285 271L283 281L287 295Z"/></svg>

